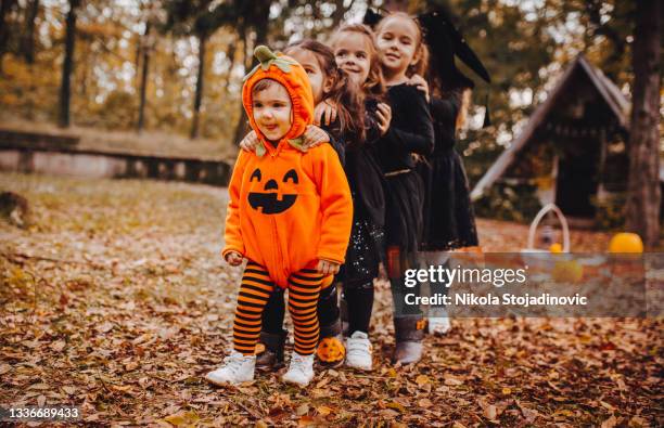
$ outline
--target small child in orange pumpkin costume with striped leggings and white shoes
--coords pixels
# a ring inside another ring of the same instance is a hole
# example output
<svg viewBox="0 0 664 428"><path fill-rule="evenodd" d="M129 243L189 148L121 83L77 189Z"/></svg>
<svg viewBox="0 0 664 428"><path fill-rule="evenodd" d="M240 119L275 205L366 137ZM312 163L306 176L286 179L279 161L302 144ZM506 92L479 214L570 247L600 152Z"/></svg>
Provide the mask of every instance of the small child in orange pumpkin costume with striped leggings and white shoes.
<svg viewBox="0 0 664 428"><path fill-rule="evenodd" d="M261 313L274 287L289 289L295 352L283 380L307 385L318 345L318 295L343 263L353 202L344 170L329 144L304 152L301 137L314 117L306 72L265 47L247 75L242 102L260 139L241 151L229 185L225 259L244 270L233 323L233 352L207 374L214 384L254 378Z"/></svg>

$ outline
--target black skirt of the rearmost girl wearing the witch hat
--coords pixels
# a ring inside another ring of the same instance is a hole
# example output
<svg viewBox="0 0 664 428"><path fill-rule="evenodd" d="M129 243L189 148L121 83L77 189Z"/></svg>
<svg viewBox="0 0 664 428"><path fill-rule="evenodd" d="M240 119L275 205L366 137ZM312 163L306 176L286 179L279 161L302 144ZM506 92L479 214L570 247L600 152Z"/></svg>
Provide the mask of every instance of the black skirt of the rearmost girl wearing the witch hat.
<svg viewBox="0 0 664 428"><path fill-rule="evenodd" d="M418 166L424 182L421 250L442 251L477 245L475 215L461 156L449 147Z"/></svg>

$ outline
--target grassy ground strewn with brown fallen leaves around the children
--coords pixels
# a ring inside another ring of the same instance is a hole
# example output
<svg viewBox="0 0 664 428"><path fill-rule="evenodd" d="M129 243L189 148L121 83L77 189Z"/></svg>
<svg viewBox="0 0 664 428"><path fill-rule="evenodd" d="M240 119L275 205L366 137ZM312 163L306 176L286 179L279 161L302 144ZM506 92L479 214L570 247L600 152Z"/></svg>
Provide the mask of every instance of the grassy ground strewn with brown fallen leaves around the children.
<svg viewBox="0 0 664 428"><path fill-rule="evenodd" d="M31 223L0 221L0 405L71 404L89 425L662 426L662 321L455 320L416 367L388 363L380 289L376 368L277 375L218 389L239 269L218 256L226 191L0 174ZM526 226L480 221L485 251ZM575 250L606 234L574 232Z"/></svg>

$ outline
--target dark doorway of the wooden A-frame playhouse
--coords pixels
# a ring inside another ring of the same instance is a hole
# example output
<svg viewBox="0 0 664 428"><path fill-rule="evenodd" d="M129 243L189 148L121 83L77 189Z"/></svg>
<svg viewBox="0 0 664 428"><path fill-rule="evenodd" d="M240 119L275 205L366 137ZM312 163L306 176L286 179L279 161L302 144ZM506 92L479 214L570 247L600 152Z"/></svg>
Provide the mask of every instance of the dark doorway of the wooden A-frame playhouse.
<svg viewBox="0 0 664 428"><path fill-rule="evenodd" d="M565 216L592 218L591 197L597 193L598 153L591 144L579 141L561 156L558 169L556 204Z"/></svg>

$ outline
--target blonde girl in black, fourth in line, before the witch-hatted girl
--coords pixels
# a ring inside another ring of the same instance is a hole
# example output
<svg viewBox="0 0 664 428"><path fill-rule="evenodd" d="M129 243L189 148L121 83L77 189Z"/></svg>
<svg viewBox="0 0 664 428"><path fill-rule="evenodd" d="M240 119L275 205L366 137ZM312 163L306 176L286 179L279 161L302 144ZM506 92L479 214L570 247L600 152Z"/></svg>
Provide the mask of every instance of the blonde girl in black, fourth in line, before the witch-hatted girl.
<svg viewBox="0 0 664 428"><path fill-rule="evenodd" d="M418 23L405 13L384 17L376 26L376 46L393 120L376 145L386 181L385 233L387 271L394 300L396 348L394 362L416 363L422 356L424 320L419 306L407 304L405 272L418 267L417 252L423 229L424 185L416 171L416 157L434 147L433 122L424 94L408 85L426 69L427 50Z"/></svg>

